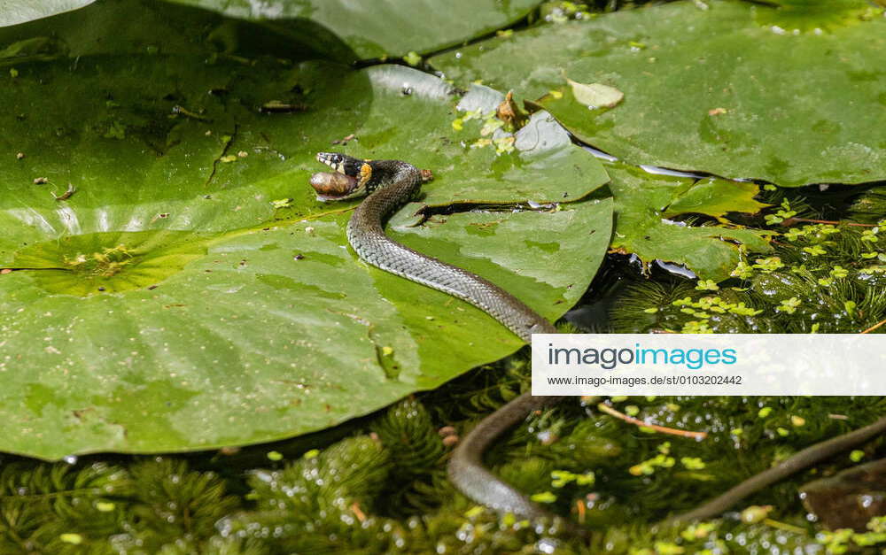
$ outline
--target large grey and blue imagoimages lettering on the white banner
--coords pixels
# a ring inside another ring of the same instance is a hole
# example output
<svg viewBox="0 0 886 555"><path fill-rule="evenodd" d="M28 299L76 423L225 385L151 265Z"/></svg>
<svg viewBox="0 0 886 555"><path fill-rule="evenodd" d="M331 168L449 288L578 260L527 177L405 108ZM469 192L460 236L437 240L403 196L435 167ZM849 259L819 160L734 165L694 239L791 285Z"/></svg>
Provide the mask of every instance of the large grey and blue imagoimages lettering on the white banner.
<svg viewBox="0 0 886 555"><path fill-rule="evenodd" d="M701 370L705 366L734 365L735 349L662 349L647 348L640 343L629 347L555 347L548 343L548 364L551 366L600 366L615 370L618 366L685 366Z"/></svg>

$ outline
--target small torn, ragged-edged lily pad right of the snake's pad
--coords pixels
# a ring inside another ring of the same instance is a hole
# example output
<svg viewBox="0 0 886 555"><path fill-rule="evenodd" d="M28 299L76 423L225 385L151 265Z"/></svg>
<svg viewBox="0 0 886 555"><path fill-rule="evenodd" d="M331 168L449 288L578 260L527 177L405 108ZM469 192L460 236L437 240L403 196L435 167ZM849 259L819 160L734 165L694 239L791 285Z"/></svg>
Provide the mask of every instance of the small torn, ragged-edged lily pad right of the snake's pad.
<svg viewBox="0 0 886 555"><path fill-rule="evenodd" d="M692 226L673 216L699 213L717 217L722 205L756 212L762 204L749 192L755 185L653 175L623 163L606 166L616 200L612 248L636 254L644 263L663 260L686 266L698 277L722 281L738 265L740 247L770 251L769 232L737 226ZM708 193L714 191L710 197Z"/></svg>

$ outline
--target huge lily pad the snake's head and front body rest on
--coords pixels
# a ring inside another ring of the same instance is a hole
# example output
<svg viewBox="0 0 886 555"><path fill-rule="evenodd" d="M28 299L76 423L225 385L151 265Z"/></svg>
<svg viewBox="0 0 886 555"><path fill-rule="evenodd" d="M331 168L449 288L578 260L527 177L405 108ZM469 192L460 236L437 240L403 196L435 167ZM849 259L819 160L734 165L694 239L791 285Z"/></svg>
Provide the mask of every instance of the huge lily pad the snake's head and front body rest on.
<svg viewBox="0 0 886 555"><path fill-rule="evenodd" d="M402 66L151 50L0 61L11 67L0 450L45 459L293 436L520 346L485 313L355 258L354 203L318 203L307 186L318 150L406 158L435 171L438 198L486 187L526 205L529 181L570 200L607 180L544 113L512 152L462 145L478 130L453 128L453 89ZM499 98L470 95L488 110ZM393 233L554 319L587 288L612 222L610 201L559 208Z"/></svg>

